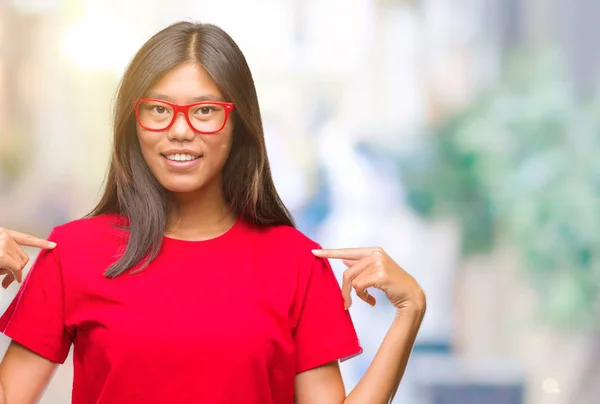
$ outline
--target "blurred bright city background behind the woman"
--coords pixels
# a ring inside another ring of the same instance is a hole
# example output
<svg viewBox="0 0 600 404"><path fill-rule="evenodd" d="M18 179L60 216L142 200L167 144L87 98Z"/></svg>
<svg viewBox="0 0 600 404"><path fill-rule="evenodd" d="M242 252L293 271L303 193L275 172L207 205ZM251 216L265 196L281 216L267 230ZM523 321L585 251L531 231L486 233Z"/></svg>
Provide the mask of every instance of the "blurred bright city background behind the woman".
<svg viewBox="0 0 600 404"><path fill-rule="evenodd" d="M428 294L395 402L598 403L598 16L595 0L3 0L0 225L45 237L88 213L129 59L177 20L215 23L254 73L299 228L384 247ZM351 308L348 389L394 315L376 297ZM68 361L43 403L69 402L71 377Z"/></svg>

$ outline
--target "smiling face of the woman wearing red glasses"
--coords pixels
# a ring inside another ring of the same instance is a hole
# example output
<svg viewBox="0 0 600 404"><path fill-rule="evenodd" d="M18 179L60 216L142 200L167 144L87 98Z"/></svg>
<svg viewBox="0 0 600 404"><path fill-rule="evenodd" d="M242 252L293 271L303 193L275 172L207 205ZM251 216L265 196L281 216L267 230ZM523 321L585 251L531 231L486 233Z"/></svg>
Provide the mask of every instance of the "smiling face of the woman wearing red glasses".
<svg viewBox="0 0 600 404"><path fill-rule="evenodd" d="M179 105L207 100L228 101L223 99L202 66L194 62L173 68L145 97ZM233 122L228 118L225 126L214 134L203 134L194 129L218 129L219 122L225 119L223 114L227 115L218 108L218 105L198 105L189 111L189 122L183 113L179 113L171 127L153 131L149 129L160 129L171 121L175 115L173 110L167 104L155 101L138 106L137 134L142 155L154 177L168 191L189 193L207 188L221 189L221 172L231 149Z"/></svg>

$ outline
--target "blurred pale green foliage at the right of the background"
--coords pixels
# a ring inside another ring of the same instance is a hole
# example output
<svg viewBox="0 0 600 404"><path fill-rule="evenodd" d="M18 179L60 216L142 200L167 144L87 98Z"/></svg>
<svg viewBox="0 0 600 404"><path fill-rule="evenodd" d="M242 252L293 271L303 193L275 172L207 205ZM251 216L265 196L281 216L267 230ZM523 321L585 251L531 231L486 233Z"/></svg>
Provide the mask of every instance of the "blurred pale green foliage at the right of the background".
<svg viewBox="0 0 600 404"><path fill-rule="evenodd" d="M556 55L502 82L401 159L409 204L462 224L465 255L518 247L543 319L592 328L600 291L600 97L574 96ZM510 291L507 291L510 299Z"/></svg>

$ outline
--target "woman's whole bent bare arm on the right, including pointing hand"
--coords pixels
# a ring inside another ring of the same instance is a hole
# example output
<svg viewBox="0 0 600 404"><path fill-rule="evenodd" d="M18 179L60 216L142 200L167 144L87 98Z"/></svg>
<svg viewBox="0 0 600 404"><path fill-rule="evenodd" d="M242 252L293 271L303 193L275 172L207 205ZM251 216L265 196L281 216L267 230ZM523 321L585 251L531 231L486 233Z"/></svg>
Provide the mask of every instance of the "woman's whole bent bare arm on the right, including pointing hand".
<svg viewBox="0 0 600 404"><path fill-rule="evenodd" d="M381 248L316 250L314 253L323 258L341 259L348 266L342 284L347 308L352 304L352 289L360 299L375 305L375 298L367 291L375 287L385 292L398 311L373 362L347 397L339 366L333 362L296 376L296 403L389 403L398 390L425 315L425 294L414 278Z"/></svg>

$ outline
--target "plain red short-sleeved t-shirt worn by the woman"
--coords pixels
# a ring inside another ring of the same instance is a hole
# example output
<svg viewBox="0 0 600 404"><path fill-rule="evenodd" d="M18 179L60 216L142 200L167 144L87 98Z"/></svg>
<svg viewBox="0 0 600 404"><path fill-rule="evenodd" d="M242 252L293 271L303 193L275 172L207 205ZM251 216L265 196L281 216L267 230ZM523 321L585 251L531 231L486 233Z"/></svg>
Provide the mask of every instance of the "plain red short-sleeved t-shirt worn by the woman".
<svg viewBox="0 0 600 404"><path fill-rule="evenodd" d="M329 263L294 228L164 237L146 269L107 279L120 219L55 228L0 319L53 362L73 344L74 404L292 403L297 373L361 352Z"/></svg>

